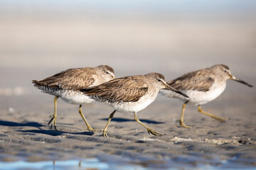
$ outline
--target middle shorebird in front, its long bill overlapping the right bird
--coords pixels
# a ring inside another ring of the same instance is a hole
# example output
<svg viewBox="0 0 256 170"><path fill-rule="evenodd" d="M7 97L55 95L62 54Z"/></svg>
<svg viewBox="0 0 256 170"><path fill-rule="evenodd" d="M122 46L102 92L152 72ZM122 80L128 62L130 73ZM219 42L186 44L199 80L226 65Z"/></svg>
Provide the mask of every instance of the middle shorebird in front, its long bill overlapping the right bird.
<svg viewBox="0 0 256 170"><path fill-rule="evenodd" d="M108 137L107 127L116 111L134 113L134 118L137 123L146 128L149 134L159 136L164 134L151 130L151 128L144 125L137 117L137 112L149 106L149 104L155 100L160 89L168 89L187 97L186 94L166 84L164 76L159 73L113 79L98 86L82 89L81 91L95 101L107 103L114 108L103 130L103 136Z"/></svg>

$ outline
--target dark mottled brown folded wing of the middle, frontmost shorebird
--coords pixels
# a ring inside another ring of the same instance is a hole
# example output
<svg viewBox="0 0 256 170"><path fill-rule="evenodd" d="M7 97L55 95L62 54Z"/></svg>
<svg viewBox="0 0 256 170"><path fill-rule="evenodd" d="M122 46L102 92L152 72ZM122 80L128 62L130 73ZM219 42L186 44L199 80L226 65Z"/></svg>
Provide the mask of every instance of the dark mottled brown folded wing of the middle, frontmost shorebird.
<svg viewBox="0 0 256 170"><path fill-rule="evenodd" d="M138 101L148 91L146 82L139 77L123 77L113 79L98 86L82 89L87 96L96 96L108 101Z"/></svg>

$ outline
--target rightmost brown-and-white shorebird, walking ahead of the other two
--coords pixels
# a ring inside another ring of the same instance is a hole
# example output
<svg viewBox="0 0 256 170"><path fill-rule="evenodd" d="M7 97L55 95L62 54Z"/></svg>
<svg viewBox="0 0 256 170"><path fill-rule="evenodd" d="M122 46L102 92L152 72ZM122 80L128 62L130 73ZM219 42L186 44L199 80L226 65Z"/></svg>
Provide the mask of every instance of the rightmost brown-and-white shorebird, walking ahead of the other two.
<svg viewBox="0 0 256 170"><path fill-rule="evenodd" d="M247 82L234 77L231 74L228 66L224 64L216 64L213 67L200 69L195 72L189 72L188 74L184 74L177 79L167 82L169 86L172 86L175 89L186 93L189 98L183 98L182 96L176 95L166 90L161 90L160 93L164 96L179 98L182 101L185 101L183 103L180 119L180 125L183 128L191 128L191 126L187 126L185 123L183 123L184 112L186 104L188 103L192 103L198 106L198 112L208 115L220 122L225 122L225 118L220 118L217 115L203 111L201 105L208 103L209 101L213 101L215 98L220 96L220 94L222 94L225 90L227 79L233 79L252 87L252 85L248 84Z"/></svg>

